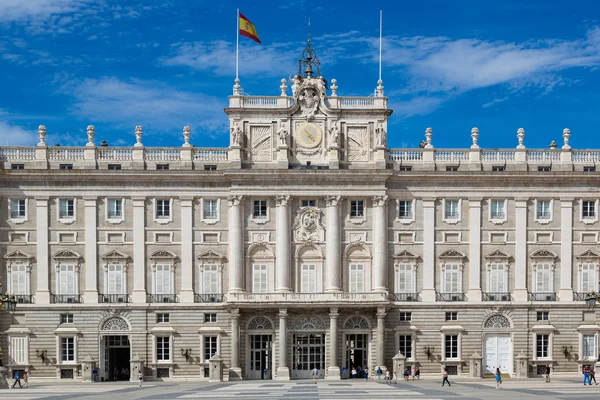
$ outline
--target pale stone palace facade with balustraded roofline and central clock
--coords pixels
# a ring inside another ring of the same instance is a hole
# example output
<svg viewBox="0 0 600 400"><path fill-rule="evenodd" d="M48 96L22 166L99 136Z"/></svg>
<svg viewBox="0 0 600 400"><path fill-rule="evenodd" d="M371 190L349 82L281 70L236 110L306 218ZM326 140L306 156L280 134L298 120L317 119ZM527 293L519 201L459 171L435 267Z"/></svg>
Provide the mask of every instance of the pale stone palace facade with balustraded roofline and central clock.
<svg viewBox="0 0 600 400"><path fill-rule="evenodd" d="M387 147L381 81L312 71L225 112L228 148L0 148L4 363L37 379L314 367L577 374L598 358L600 151ZM465 135L466 136L466 135ZM132 142L134 136L131 135ZM209 360L213 360L209 362ZM131 361L133 360L133 361ZM218 376L218 375L215 375Z"/></svg>

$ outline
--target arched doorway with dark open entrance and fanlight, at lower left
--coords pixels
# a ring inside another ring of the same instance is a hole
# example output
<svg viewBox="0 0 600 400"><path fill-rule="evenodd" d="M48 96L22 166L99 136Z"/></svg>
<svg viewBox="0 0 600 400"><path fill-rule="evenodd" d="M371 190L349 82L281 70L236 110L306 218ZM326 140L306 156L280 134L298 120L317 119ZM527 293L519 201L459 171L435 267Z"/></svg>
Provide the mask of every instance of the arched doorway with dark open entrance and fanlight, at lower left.
<svg viewBox="0 0 600 400"><path fill-rule="evenodd" d="M100 324L99 376L105 381L129 380L131 328L124 318L111 316Z"/></svg>

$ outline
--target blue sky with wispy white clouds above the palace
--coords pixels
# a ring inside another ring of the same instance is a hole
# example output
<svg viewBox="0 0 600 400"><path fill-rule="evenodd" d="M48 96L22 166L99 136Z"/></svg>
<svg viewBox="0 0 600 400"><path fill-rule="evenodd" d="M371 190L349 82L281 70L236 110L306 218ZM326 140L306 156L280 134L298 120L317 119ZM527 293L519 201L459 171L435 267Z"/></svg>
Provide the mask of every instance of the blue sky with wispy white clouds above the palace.
<svg viewBox="0 0 600 400"><path fill-rule="evenodd" d="M277 95L297 68L310 17L325 78L338 94L377 85L379 10L383 81L394 114L390 147L562 143L598 148L600 5L594 1L327 2L0 0L0 144L227 146L223 108L234 79L235 10L263 44L240 38L240 78Z"/></svg>

